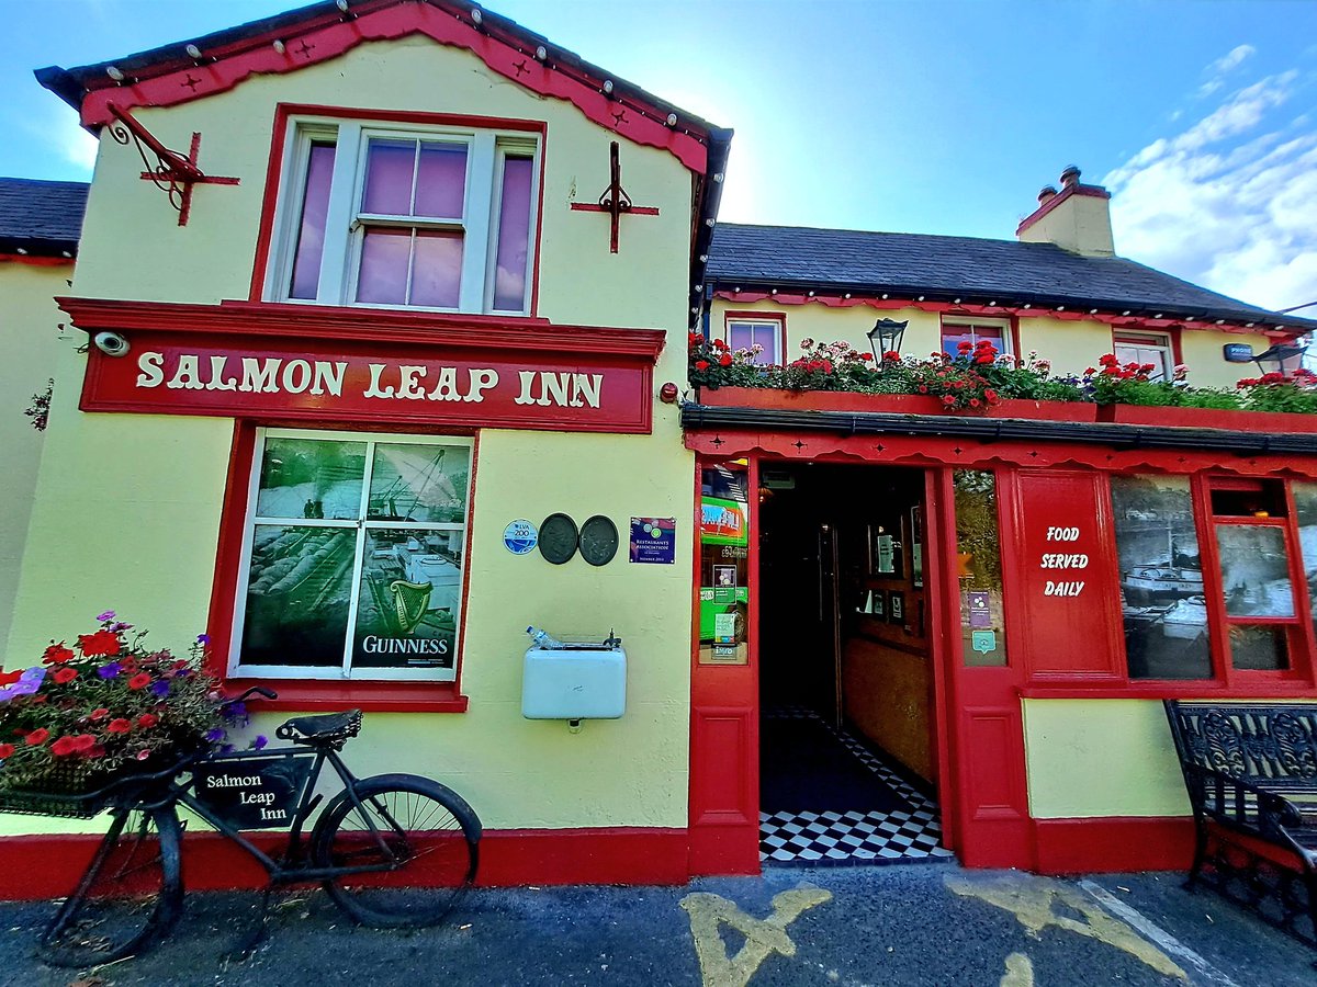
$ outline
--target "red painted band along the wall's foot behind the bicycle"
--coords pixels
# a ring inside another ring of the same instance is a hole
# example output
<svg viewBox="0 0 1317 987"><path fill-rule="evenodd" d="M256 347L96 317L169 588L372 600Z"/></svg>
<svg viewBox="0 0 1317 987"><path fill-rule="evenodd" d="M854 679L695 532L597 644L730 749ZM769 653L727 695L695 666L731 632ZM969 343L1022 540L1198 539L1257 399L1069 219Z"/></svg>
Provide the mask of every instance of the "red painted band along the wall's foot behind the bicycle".
<svg viewBox="0 0 1317 987"><path fill-rule="evenodd" d="M266 853L287 842L282 830L246 834ZM78 883L99 834L11 836L0 840L0 900L33 901L67 895ZM32 861L42 861L33 867ZM190 891L262 888L265 870L238 846L209 832L183 840ZM685 884L686 830L639 826L486 830L477 883Z"/></svg>

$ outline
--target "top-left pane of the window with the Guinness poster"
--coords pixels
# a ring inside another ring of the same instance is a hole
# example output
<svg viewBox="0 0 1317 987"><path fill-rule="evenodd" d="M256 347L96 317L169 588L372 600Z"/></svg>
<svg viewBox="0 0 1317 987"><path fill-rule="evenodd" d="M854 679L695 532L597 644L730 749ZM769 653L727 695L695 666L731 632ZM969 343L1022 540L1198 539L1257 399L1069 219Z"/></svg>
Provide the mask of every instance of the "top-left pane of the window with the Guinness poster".
<svg viewBox="0 0 1317 987"><path fill-rule="evenodd" d="M356 520L365 442L267 438L255 495L258 517Z"/></svg>

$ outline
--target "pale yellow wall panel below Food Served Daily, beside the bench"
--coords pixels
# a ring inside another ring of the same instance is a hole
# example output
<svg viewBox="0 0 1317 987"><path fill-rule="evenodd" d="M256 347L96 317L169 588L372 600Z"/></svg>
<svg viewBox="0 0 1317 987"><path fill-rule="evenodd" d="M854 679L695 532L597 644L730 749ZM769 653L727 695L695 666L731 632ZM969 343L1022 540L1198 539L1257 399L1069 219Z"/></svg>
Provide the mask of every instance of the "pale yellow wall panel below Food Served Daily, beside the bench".
<svg viewBox="0 0 1317 987"><path fill-rule="evenodd" d="M1160 701L1026 699L1023 707L1035 819L1189 815Z"/></svg>

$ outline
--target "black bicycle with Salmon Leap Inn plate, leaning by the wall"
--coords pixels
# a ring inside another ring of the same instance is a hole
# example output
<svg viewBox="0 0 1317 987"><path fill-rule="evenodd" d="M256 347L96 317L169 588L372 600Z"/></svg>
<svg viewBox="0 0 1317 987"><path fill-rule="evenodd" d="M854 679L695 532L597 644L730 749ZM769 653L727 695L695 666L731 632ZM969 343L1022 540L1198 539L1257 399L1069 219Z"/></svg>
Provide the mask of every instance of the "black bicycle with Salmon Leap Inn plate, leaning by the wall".
<svg viewBox="0 0 1317 987"><path fill-rule="evenodd" d="M254 695L277 697L254 687L232 701ZM360 709L294 717L275 730L291 747L188 754L162 771L65 797L63 815L90 817L108 809L111 825L76 890L46 926L38 955L55 966L111 963L169 934L184 895L179 805L269 874L261 923L244 953L263 934L265 905L279 884L320 882L335 904L363 925L421 928L443 921L475 880L481 821L457 792L429 778L353 775L338 751L357 736L361 720ZM304 836L324 797L315 788L325 762L342 791ZM14 808L13 796L7 808ZM47 811L51 797L40 796ZM279 858L242 834L253 825L287 825ZM403 891L419 887L424 892Z"/></svg>

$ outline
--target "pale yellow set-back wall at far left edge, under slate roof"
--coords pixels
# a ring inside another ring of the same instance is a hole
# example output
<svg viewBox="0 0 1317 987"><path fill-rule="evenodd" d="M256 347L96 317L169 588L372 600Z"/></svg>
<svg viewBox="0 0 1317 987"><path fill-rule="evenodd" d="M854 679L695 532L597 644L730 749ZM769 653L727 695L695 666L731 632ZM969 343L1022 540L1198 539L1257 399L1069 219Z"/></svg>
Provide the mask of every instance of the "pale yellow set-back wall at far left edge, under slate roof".
<svg viewBox="0 0 1317 987"><path fill-rule="evenodd" d="M68 291L72 263L43 266L0 261L0 341L5 347L0 366L0 647L9 637L9 619L18 591L18 561L28 537L32 497L37 487L42 433L24 412L34 393L46 390L55 375L58 350L71 350L82 333L58 326L63 313L53 301ZM8 666L4 651L0 665Z"/></svg>

